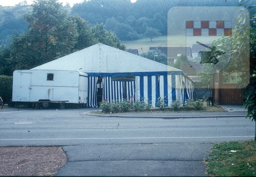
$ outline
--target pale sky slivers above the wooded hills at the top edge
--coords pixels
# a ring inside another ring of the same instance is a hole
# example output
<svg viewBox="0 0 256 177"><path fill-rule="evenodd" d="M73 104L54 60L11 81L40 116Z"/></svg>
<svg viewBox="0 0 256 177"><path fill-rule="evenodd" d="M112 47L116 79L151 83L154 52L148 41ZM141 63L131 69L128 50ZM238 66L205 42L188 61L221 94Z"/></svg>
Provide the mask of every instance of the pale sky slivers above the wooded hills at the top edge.
<svg viewBox="0 0 256 177"><path fill-rule="evenodd" d="M14 6L18 4L19 2L22 2L24 0L0 0L0 5L1 6ZM28 4L32 4L33 0L26 0ZM59 2L63 2L63 5L68 2L70 6L73 6L75 3L80 3L83 2L84 0L59 0ZM135 2L136 0L131 0L131 2Z"/></svg>

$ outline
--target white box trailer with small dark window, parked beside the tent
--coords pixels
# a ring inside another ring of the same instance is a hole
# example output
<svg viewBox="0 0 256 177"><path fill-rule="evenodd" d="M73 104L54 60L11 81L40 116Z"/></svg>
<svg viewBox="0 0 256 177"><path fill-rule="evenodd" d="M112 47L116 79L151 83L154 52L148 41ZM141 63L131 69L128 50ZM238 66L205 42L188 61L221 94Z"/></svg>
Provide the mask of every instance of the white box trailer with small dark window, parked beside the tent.
<svg viewBox="0 0 256 177"><path fill-rule="evenodd" d="M13 72L12 104L32 102L35 105L40 103L43 108L47 108L54 102L85 105L87 99L88 75L86 73L63 70L15 70Z"/></svg>

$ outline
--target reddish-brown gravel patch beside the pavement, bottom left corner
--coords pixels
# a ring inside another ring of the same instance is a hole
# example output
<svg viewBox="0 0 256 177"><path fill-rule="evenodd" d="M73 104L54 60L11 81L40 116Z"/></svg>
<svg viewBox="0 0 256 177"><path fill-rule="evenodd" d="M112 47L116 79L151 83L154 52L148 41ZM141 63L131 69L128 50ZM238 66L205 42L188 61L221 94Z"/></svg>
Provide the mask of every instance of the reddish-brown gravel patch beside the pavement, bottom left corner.
<svg viewBox="0 0 256 177"><path fill-rule="evenodd" d="M61 147L0 147L0 176L53 176L65 163Z"/></svg>

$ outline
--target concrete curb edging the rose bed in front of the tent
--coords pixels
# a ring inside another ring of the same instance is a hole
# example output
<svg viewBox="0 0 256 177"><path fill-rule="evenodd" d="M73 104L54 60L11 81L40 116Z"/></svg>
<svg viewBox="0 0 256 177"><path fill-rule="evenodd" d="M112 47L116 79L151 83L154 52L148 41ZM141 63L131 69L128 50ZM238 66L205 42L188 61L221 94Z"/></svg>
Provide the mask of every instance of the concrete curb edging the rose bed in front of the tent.
<svg viewBox="0 0 256 177"><path fill-rule="evenodd" d="M162 118L162 119L178 119L178 118L245 118L246 115L207 115L207 116L138 116L138 115L97 115L86 112L84 115L96 116L96 117L107 117L107 118Z"/></svg>

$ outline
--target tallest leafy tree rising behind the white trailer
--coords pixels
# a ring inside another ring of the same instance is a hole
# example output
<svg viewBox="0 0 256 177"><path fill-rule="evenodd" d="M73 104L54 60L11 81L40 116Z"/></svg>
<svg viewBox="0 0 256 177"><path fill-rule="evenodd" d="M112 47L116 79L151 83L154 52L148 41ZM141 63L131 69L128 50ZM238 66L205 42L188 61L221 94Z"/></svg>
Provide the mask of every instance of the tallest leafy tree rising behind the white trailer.
<svg viewBox="0 0 256 177"><path fill-rule="evenodd" d="M70 54L77 43L77 24L71 23L58 0L36 0L24 16L29 29L14 37L11 57L16 69L31 68Z"/></svg>

